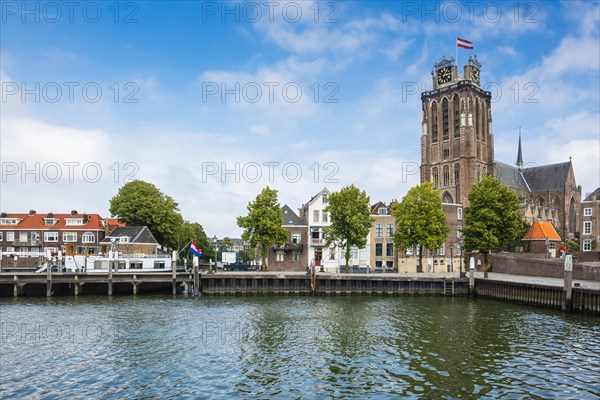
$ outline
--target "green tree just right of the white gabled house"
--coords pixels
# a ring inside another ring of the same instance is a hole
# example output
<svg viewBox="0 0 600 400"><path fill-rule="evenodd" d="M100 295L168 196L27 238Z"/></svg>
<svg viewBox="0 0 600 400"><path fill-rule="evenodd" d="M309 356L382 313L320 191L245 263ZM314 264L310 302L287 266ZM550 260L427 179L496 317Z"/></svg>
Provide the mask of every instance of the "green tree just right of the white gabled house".
<svg viewBox="0 0 600 400"><path fill-rule="evenodd" d="M369 206L369 196L354 185L346 186L339 192L331 193L325 211L329 212L331 225L325 228L326 243L338 244L344 249L346 270L350 260L350 249L359 249L367 244L373 218Z"/></svg>

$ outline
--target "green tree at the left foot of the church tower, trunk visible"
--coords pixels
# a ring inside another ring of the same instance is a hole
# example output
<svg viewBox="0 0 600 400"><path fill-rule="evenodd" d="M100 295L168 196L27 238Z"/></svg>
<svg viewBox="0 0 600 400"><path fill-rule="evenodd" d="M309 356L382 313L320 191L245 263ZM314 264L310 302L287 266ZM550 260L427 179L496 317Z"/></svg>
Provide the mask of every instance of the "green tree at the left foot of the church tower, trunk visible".
<svg viewBox="0 0 600 400"><path fill-rule="evenodd" d="M417 272L423 272L423 246L428 249L441 247L450 231L442 198L431 182L424 182L411 188L402 202L393 205L392 215L398 224L396 243L418 247Z"/></svg>

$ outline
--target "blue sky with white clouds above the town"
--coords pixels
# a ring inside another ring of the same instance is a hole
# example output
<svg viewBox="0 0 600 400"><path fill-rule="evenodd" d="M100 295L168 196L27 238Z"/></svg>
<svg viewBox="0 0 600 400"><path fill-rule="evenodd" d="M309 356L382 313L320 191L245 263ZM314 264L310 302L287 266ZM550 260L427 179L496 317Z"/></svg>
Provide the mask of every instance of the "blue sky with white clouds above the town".
<svg viewBox="0 0 600 400"><path fill-rule="evenodd" d="M420 93L482 63L495 159L600 186L598 2L0 3L0 209L99 213L140 179L209 236L265 187L298 209L419 183Z"/></svg>

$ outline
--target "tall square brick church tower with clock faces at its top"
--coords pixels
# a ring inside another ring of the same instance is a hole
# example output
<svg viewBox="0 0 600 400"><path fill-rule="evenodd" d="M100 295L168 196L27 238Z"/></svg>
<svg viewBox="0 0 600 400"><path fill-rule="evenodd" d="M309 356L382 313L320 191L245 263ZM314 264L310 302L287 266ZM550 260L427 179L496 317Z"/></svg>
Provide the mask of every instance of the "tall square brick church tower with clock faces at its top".
<svg viewBox="0 0 600 400"><path fill-rule="evenodd" d="M463 76L454 58L442 58L431 72L433 90L421 94L421 183L433 182L443 203L468 206L471 187L496 174L491 93L480 88L480 71L477 56Z"/></svg>

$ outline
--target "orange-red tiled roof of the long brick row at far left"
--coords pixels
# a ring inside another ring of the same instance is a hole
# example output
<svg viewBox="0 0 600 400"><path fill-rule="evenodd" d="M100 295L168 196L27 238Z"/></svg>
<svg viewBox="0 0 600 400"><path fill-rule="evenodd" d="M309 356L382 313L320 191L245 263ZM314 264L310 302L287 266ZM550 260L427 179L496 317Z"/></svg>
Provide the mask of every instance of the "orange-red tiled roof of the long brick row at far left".
<svg viewBox="0 0 600 400"><path fill-rule="evenodd" d="M67 225L67 218L83 218L87 215L88 221L83 225ZM40 229L40 230L105 230L106 219L102 218L98 214L54 214L56 223L54 225L46 225L44 218L48 218L48 214L6 214L2 218L18 218L21 221L16 225L1 225L0 229L3 230L19 230L19 229Z"/></svg>

